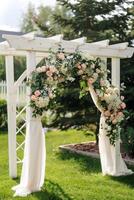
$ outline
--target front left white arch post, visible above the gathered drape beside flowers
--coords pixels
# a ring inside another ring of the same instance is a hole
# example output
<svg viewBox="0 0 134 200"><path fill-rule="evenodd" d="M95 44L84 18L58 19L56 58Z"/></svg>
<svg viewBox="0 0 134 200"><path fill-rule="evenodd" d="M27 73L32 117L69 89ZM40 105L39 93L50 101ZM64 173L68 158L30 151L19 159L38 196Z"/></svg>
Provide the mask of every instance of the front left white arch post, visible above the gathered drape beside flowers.
<svg viewBox="0 0 134 200"><path fill-rule="evenodd" d="M30 76L30 72L34 70L36 67L36 54L35 52L29 51L27 53L27 78ZM31 89L27 87L27 103L30 102L30 93ZM30 119L32 117L32 110L30 106L27 106L26 109L26 122L29 123Z"/></svg>

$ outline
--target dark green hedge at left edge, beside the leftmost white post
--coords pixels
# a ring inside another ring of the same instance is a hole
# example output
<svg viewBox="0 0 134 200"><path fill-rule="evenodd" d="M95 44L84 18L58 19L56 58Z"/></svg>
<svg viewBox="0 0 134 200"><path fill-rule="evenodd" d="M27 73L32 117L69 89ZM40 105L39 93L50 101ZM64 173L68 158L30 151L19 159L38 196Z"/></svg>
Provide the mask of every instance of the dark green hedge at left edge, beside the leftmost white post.
<svg viewBox="0 0 134 200"><path fill-rule="evenodd" d="M0 130L7 130L7 102L0 99Z"/></svg>

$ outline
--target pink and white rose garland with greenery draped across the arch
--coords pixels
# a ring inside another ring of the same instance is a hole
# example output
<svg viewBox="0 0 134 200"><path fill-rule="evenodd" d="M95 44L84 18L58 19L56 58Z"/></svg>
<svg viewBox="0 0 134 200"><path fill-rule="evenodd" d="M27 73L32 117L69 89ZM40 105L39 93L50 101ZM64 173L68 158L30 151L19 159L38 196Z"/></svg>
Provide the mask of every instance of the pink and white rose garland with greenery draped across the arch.
<svg viewBox="0 0 134 200"><path fill-rule="evenodd" d="M92 85L106 118L107 136L112 145L119 136L119 129L124 119L126 104L124 97L119 95L118 88L110 84L105 69L99 58L89 59L82 53L65 54L62 47L56 53L50 52L45 65L37 67L31 74L28 84L31 87L30 106L33 116L42 115L54 100L59 84L73 82L76 78L80 83L80 98L89 92Z"/></svg>

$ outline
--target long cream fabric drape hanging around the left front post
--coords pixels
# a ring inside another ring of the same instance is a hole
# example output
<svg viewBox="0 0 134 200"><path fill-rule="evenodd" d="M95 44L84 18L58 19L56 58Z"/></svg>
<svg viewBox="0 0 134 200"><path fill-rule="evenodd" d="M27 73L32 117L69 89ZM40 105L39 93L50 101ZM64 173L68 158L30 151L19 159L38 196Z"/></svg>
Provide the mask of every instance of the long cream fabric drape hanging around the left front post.
<svg viewBox="0 0 134 200"><path fill-rule="evenodd" d="M14 196L27 196L40 191L45 177L45 159L45 136L41 119L31 118L27 124L20 184L12 188Z"/></svg>

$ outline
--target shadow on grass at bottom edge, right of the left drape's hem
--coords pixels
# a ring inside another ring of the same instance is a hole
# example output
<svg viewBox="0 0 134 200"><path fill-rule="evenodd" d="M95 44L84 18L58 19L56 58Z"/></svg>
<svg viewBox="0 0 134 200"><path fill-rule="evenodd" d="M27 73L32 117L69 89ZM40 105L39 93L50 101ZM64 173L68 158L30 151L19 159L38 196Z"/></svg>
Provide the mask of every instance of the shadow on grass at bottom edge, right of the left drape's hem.
<svg viewBox="0 0 134 200"><path fill-rule="evenodd" d="M71 200L68 194L57 184L50 180L45 180L42 191L33 193L39 200Z"/></svg>

